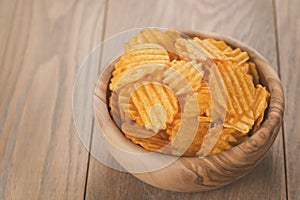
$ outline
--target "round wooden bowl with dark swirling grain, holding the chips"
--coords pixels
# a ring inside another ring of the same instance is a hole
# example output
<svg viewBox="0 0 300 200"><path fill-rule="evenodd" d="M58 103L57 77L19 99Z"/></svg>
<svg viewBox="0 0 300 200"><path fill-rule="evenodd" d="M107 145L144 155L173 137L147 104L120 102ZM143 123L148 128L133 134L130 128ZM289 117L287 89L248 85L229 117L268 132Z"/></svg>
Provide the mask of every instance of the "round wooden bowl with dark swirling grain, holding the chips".
<svg viewBox="0 0 300 200"><path fill-rule="evenodd" d="M215 189L249 173L267 154L272 146L281 126L284 112L284 94L280 79L272 69L270 63L257 51L233 38L215 33L185 31L194 37L214 38L223 40L232 47L239 47L248 52L251 60L256 63L262 84L270 92L270 104L265 120L259 130L250 139L230 150L219 154L199 157L180 157L168 166L143 173L132 173L138 179L166 190L178 192L193 192ZM143 165L144 160L135 160L134 152L143 152L141 147L127 140L112 121L107 109L107 85L111 77L113 65L108 66L100 75L94 96L95 116L107 140L114 147L126 149L129 154L122 154L112 148L114 158L125 168L130 163ZM160 154L160 158L169 159L170 156ZM153 161L155 162L155 161ZM130 169L129 169L130 171Z"/></svg>

